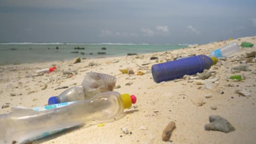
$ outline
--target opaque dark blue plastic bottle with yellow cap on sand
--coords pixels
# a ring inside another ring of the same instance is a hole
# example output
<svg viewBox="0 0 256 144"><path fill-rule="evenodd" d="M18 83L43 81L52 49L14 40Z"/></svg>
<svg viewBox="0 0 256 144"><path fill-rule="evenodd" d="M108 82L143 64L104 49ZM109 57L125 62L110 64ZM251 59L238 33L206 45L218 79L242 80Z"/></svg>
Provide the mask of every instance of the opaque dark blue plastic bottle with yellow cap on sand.
<svg viewBox="0 0 256 144"><path fill-rule="evenodd" d="M218 59L205 55L191 56L175 61L168 61L161 64L152 65L152 75L156 83L175 78L183 77L184 75L193 75L197 72L203 72L204 69L216 64Z"/></svg>

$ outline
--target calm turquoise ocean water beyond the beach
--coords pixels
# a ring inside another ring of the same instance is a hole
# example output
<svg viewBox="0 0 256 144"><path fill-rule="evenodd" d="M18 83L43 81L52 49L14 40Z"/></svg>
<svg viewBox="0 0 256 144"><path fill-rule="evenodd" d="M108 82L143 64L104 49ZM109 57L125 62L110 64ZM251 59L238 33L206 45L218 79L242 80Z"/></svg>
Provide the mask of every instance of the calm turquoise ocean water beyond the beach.
<svg viewBox="0 0 256 144"><path fill-rule="evenodd" d="M77 50L74 49L75 47L84 49ZM0 43L0 65L72 60L76 57L127 56L127 53L155 53L187 47L188 44ZM101 48L106 48L106 50ZM75 51L78 53L72 53ZM106 54L97 54L98 52Z"/></svg>

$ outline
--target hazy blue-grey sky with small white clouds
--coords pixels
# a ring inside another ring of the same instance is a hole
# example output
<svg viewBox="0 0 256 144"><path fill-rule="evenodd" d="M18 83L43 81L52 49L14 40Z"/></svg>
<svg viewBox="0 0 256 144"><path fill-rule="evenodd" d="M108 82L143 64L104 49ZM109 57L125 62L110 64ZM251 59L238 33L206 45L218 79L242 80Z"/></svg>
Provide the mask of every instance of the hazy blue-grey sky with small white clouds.
<svg viewBox="0 0 256 144"><path fill-rule="evenodd" d="M256 0L0 0L0 42L205 44L256 36Z"/></svg>

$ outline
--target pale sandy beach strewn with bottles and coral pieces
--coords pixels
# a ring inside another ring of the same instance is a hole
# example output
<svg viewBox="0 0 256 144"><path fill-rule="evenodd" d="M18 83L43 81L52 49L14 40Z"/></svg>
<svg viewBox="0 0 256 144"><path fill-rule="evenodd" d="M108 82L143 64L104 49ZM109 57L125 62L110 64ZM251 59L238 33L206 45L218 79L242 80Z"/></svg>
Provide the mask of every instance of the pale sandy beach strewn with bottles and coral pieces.
<svg viewBox="0 0 256 144"><path fill-rule="evenodd" d="M190 54L208 55L211 51L233 41L239 45L246 41L253 43L254 46L252 48L240 47L239 52L224 59L229 61L231 66L227 66L224 64L225 61L222 61L219 66L212 66L209 69L209 71L216 71L216 76L220 77L219 83L213 83L214 88L212 89L202 89L203 85L188 83L187 80L155 83L152 79L149 70L153 64ZM253 144L256 143L256 58L251 58L251 63L247 63L252 71L232 74L230 69L230 67L246 64L246 59L243 58L252 51L256 51L256 37L243 37L232 41L199 45L196 48L138 56L82 59L80 63L76 64L72 64L72 61L53 61L0 66L0 106L10 103L9 107L0 109L0 114L11 112L12 107L15 106L28 108L43 106L47 104L49 97L57 96L65 90L55 90L56 88L80 85L88 72L99 72L117 77L116 85L120 85L121 88L114 91L136 95L138 107L125 109L124 114L116 120L104 121L104 126L97 126L102 123L101 121L88 122L84 126L39 139L33 144ZM158 62L150 60L152 56L158 57ZM91 62L98 65L89 66ZM138 66L145 63L149 64L143 67L149 70L141 69ZM36 75L35 72L38 69L53 66L57 67L55 72L46 73L43 76L27 77L30 74ZM128 74L122 74L118 69L127 67L133 68L135 73L142 71L146 74L133 75L136 77L135 80L126 80L129 77ZM67 77L62 74L66 70L76 70L77 75ZM228 82L226 79L231 75L243 75L246 79L240 82ZM125 85L128 82L132 82L132 84ZM45 85L47 88L42 90ZM240 96L235 93L235 90L239 88L244 89L251 96ZM11 94L16 96L11 96ZM212 97L205 98L209 94ZM198 104L198 102L201 103ZM216 107L216 109L213 110L211 107ZM229 133L205 131L204 126L209 123L210 115L224 117L235 127L235 131ZM165 142L162 140L162 133L171 121L176 123L176 128L172 131L170 141ZM124 134L121 128L127 128L129 133Z"/></svg>

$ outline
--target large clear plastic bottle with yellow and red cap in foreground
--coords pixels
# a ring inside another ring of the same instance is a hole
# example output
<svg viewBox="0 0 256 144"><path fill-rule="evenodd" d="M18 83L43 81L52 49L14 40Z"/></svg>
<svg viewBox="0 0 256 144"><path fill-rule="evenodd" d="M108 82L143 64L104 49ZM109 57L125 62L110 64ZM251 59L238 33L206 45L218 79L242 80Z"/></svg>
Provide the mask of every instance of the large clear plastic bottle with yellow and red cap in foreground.
<svg viewBox="0 0 256 144"><path fill-rule="evenodd" d="M136 103L136 97L110 91L86 101L29 109L14 107L0 115L0 143L26 143L91 120L109 120Z"/></svg>

